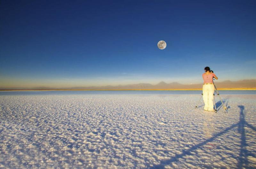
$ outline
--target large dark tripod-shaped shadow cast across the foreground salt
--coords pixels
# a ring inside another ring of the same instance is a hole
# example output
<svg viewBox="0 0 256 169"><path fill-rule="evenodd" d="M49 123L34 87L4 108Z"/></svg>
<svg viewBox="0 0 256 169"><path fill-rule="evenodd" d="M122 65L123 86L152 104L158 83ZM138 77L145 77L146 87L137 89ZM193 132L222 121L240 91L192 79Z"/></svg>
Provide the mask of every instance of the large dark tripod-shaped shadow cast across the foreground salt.
<svg viewBox="0 0 256 169"><path fill-rule="evenodd" d="M239 157L237 159L238 163L237 163L237 168L252 168L249 165L248 162L248 156L252 156L255 158L255 155L250 153L247 149L246 149L246 136L245 136L245 129L244 127L248 127L251 128L255 131L255 127L253 127L251 124L247 123L244 119L244 106L238 106L240 108L240 118L239 118L239 122L236 124L233 124L232 126L226 128L225 130L223 130L222 132L219 132L217 134L215 134L214 136L212 136L211 138L205 140L202 143L196 144L193 147L191 147L188 150L183 150L183 152L181 154L177 154L176 156L172 157L169 160L165 160L162 161L161 164L159 165L155 165L153 167L150 168L164 168L165 165L170 165L172 164L172 162L177 162L179 161L179 158L182 158L186 155L193 155L191 154L192 151L195 151L196 149L202 147L203 145L205 145L206 143L212 142L214 141L214 139L216 139L217 137L227 133L229 130L238 127L238 133L241 135L240 137L240 153L239 153Z"/></svg>

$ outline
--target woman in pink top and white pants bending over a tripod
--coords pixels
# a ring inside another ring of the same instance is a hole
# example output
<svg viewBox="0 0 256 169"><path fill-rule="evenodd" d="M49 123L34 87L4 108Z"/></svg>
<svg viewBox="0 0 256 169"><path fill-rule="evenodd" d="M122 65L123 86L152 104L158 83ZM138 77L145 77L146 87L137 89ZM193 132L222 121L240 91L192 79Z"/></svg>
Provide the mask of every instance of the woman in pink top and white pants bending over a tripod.
<svg viewBox="0 0 256 169"><path fill-rule="evenodd" d="M214 85L212 78L218 79L218 77L210 72L210 68L207 66L204 68L203 79L203 98L204 98L204 110L206 111L214 111L213 110L213 93L214 93Z"/></svg>

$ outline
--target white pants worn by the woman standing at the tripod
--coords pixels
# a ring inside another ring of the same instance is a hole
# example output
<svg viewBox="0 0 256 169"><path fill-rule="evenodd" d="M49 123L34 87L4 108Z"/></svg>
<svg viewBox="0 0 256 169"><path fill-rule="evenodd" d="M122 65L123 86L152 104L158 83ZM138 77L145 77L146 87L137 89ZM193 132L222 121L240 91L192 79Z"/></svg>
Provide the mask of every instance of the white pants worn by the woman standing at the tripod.
<svg viewBox="0 0 256 169"><path fill-rule="evenodd" d="M204 110L214 111L213 110L213 93L214 93L213 84L203 85Z"/></svg>

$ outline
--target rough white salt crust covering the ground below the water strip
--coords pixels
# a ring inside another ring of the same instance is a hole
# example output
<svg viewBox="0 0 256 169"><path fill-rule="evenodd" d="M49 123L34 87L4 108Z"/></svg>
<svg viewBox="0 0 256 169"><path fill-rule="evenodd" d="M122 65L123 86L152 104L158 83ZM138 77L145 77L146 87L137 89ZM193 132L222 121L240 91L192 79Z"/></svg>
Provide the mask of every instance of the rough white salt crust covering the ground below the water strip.
<svg viewBox="0 0 256 169"><path fill-rule="evenodd" d="M255 95L0 96L2 168L255 168Z"/></svg>

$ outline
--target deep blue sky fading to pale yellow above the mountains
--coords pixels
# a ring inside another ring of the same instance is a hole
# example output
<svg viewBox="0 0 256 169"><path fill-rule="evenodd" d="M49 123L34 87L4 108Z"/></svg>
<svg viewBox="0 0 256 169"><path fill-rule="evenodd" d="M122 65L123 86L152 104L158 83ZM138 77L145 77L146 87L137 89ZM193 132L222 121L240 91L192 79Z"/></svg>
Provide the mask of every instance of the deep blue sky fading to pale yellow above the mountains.
<svg viewBox="0 0 256 169"><path fill-rule="evenodd" d="M255 0L2 0L0 26L0 87L256 78Z"/></svg>

